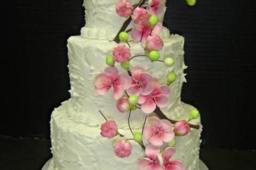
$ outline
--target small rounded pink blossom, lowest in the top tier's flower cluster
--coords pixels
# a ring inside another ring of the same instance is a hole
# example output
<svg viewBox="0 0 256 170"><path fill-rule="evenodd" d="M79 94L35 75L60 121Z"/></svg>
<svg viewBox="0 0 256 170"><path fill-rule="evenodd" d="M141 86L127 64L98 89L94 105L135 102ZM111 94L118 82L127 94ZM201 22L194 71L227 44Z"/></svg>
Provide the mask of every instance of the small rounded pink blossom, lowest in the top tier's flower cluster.
<svg viewBox="0 0 256 170"><path fill-rule="evenodd" d="M163 40L159 36L148 36L146 49L149 51L161 50L164 46Z"/></svg>

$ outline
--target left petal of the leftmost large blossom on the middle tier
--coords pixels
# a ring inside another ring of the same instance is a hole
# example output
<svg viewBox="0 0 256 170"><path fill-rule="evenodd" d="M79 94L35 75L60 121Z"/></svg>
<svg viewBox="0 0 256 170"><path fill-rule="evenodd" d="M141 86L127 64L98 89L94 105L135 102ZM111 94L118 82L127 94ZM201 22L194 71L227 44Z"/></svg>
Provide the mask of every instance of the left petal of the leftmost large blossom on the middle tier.
<svg viewBox="0 0 256 170"><path fill-rule="evenodd" d="M111 82L109 77L101 73L94 80L94 89L99 95L104 95L111 88Z"/></svg>

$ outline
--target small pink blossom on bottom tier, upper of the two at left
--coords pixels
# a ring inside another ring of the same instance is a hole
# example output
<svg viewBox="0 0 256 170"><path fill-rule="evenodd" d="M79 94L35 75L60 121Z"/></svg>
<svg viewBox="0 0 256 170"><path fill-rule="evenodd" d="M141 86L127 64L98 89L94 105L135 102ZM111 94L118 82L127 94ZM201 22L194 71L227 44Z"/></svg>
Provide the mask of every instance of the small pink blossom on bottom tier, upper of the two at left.
<svg viewBox="0 0 256 170"><path fill-rule="evenodd" d="M102 137L113 138L118 134L118 128L115 121L107 121L103 123L100 129Z"/></svg>

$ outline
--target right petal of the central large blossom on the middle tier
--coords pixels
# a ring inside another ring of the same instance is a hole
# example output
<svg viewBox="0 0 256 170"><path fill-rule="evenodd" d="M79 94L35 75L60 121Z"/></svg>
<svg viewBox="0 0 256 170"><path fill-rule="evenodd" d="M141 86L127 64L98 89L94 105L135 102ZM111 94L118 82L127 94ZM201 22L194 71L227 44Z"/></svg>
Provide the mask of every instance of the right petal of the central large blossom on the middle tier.
<svg viewBox="0 0 256 170"><path fill-rule="evenodd" d="M141 73L140 80L141 80L141 88L140 88L141 95L146 96L151 94L151 92L153 91L152 76L148 73Z"/></svg>

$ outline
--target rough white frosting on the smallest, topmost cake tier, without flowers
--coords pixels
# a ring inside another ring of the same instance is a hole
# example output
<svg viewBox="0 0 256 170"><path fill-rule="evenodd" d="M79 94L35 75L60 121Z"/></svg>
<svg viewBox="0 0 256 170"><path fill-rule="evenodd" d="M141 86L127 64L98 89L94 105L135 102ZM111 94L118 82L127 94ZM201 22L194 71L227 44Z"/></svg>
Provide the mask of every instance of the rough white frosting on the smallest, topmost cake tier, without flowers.
<svg viewBox="0 0 256 170"><path fill-rule="evenodd" d="M84 32L85 36L91 37L93 33L98 33L103 39L114 39L127 19L116 14L116 4L118 1L119 0L84 1L86 25L82 32ZM130 0L130 2L135 5L140 1ZM165 10L166 7L164 8L164 12ZM160 22L163 22L163 18ZM132 28L132 26L131 23L129 27L127 27L127 30Z"/></svg>

